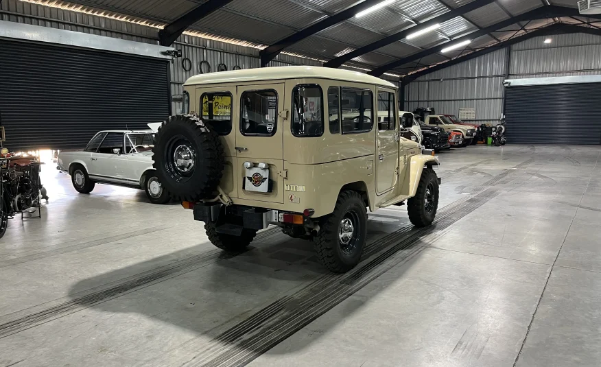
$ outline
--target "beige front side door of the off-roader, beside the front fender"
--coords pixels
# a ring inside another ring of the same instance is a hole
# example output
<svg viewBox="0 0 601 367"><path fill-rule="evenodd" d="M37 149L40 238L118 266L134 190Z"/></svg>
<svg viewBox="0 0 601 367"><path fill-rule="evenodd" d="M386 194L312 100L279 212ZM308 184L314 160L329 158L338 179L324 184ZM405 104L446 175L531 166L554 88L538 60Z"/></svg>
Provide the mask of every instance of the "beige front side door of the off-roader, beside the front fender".
<svg viewBox="0 0 601 367"><path fill-rule="evenodd" d="M377 90L378 123L376 134L376 193L381 195L397 184L399 167L399 126L396 93L389 89ZM387 121L387 122L384 122Z"/></svg>

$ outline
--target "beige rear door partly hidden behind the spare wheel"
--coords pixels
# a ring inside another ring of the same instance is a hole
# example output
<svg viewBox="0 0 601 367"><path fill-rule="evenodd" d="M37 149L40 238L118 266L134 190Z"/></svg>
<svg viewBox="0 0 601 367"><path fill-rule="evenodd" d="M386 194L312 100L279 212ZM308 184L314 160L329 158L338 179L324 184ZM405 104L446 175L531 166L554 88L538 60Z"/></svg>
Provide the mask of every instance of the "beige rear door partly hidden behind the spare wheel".
<svg viewBox="0 0 601 367"><path fill-rule="evenodd" d="M224 147L224 171L220 182L222 190L231 198L238 197L236 135L238 104L235 86L196 88L198 115L221 137Z"/></svg>

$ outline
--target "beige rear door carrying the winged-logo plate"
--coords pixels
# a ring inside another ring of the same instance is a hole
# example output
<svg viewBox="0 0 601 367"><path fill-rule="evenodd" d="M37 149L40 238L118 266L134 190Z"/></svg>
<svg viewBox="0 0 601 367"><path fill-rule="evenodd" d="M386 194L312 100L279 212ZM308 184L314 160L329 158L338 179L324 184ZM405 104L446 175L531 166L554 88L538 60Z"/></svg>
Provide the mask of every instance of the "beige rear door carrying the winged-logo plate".
<svg viewBox="0 0 601 367"><path fill-rule="evenodd" d="M284 84L238 86L236 129L238 197L284 202Z"/></svg>

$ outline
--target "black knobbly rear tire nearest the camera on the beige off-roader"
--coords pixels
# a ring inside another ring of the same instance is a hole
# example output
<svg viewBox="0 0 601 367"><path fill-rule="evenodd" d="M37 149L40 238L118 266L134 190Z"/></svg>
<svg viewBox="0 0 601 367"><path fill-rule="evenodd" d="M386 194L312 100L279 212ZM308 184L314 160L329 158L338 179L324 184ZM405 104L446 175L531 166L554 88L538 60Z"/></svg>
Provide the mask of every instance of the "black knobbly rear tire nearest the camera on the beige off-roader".
<svg viewBox="0 0 601 367"><path fill-rule="evenodd" d="M355 214L351 214L351 211ZM354 230L353 248L344 252L342 241L339 237L342 220L345 217L353 219ZM342 191L338 196L333 213L320 220L320 230L313 237L317 257L328 270L335 273L344 273L355 268L359 263L365 247L367 236L367 209L362 196L355 191Z"/></svg>

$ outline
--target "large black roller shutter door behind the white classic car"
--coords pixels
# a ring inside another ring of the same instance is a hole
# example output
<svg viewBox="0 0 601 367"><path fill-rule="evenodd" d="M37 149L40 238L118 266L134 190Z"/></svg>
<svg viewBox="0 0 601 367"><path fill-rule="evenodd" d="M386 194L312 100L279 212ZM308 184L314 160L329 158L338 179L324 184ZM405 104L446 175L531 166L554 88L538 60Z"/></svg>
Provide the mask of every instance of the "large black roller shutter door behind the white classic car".
<svg viewBox="0 0 601 367"><path fill-rule="evenodd" d="M99 130L169 116L168 61L0 39L0 123L11 150L80 149Z"/></svg>

